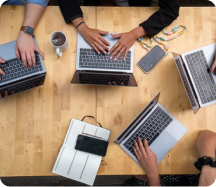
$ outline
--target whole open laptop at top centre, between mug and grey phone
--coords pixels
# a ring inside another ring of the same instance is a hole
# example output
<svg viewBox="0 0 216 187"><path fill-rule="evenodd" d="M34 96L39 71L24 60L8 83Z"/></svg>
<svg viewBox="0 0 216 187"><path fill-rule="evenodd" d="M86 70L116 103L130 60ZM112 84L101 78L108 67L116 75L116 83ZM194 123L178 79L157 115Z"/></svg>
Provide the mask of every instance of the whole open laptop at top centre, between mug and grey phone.
<svg viewBox="0 0 216 187"><path fill-rule="evenodd" d="M118 41L110 34L103 36L110 43L110 48ZM78 33L76 72L72 84L133 86L137 83L132 74L134 46L128 51L127 58L123 54L116 61L110 54L97 54L95 50Z"/></svg>

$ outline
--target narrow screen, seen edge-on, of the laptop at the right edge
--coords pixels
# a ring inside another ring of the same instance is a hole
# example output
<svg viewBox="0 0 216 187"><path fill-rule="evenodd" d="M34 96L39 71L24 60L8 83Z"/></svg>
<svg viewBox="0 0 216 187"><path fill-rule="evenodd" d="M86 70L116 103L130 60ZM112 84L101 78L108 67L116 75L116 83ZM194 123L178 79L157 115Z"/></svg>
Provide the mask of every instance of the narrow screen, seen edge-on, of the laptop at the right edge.
<svg viewBox="0 0 216 187"><path fill-rule="evenodd" d="M180 63L180 60L179 59L175 59L176 61L176 65L178 66L178 70L179 70L179 74L181 75L181 78L182 78L182 81L183 81L183 84L185 86L185 89L187 91L187 94L188 94L188 97L189 97L189 100L190 100L190 103L191 103L191 106L194 107L196 106L196 103L195 103L195 100L193 98L193 94L191 92L191 89L189 87L189 84L187 82L187 78L185 76L185 73L182 69L182 66L181 66L181 63Z"/></svg>

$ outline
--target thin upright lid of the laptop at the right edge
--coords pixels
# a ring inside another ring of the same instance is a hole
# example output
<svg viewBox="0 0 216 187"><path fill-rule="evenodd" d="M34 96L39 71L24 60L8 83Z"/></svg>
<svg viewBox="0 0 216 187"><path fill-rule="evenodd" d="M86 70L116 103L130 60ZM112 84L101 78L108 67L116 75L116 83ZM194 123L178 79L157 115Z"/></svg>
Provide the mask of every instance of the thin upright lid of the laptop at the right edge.
<svg viewBox="0 0 216 187"><path fill-rule="evenodd" d="M199 111L200 106L199 106L199 103L196 97L196 93L194 92L193 85L190 81L190 77L188 76L187 71L185 70L185 65L182 62L181 55L177 53L173 53L173 52L172 52L172 55L173 55L174 62L177 67L178 73L182 80L183 86L185 88L186 94L188 96L190 105L193 109L194 114L196 114Z"/></svg>

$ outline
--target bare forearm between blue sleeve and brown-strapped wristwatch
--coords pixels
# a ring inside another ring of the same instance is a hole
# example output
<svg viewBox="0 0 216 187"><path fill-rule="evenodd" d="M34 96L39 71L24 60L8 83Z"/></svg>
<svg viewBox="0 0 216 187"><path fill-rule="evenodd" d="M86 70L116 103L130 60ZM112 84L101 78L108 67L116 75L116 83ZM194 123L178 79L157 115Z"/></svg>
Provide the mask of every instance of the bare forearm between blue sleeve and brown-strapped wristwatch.
<svg viewBox="0 0 216 187"><path fill-rule="evenodd" d="M44 11L45 7L28 3L26 5L25 18L22 25L35 29Z"/></svg>

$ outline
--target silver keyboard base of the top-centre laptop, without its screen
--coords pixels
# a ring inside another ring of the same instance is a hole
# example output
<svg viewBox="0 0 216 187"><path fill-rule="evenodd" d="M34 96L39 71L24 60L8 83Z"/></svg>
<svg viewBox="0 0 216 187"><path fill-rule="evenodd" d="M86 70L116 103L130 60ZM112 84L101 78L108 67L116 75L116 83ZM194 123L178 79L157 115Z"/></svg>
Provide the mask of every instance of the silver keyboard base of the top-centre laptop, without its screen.
<svg viewBox="0 0 216 187"><path fill-rule="evenodd" d="M118 39L113 38L110 33L102 37L110 43L109 46L110 49L118 41ZM108 63L102 64L98 60L103 60L103 59L101 58L95 59L97 58L97 55L94 49L78 33L76 70L112 71L112 72L125 72L125 73L133 72L134 46L130 48L126 60L123 61L123 59L119 58L118 63L117 61L114 61L114 59L110 59L110 54L100 53L100 55L98 56L100 57L104 55L102 58L106 58L106 60L108 61ZM90 58L90 56L92 56L91 57L92 59ZM91 63L91 67L89 63Z"/></svg>

